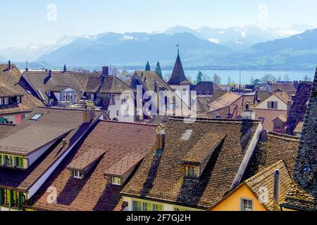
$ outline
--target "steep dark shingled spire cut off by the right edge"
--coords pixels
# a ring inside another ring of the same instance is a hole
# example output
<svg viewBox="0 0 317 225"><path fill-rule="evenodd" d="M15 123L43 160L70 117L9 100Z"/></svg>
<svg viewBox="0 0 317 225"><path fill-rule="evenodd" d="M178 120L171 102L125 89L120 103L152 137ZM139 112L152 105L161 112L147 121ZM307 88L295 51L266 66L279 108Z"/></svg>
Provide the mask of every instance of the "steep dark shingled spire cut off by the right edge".
<svg viewBox="0 0 317 225"><path fill-rule="evenodd" d="M317 198L317 69L299 141L294 180Z"/></svg>

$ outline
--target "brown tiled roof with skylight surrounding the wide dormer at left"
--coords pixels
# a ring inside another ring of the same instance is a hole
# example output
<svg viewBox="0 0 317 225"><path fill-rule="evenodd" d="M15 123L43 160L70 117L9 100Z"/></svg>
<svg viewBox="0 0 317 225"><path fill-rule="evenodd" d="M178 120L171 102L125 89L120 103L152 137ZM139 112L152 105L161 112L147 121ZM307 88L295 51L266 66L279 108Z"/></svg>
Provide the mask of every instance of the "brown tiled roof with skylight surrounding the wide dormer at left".
<svg viewBox="0 0 317 225"><path fill-rule="evenodd" d="M62 139L59 139L29 168L23 171L0 168L0 187L13 188L18 191L28 191L44 172L46 172L47 169L49 169L49 167L51 167L51 165L53 165L66 150L68 150L68 147L72 146L89 127L89 124L83 123L82 110L37 108L29 117L27 117L27 119L23 120L22 123L8 131L4 137L17 134L19 131L31 127L34 122L28 119L37 113L43 113L45 115L42 116L42 120L38 121L39 124L42 124L44 127L58 127L61 125L64 127L73 127L73 130L66 136L66 146L62 148Z"/></svg>

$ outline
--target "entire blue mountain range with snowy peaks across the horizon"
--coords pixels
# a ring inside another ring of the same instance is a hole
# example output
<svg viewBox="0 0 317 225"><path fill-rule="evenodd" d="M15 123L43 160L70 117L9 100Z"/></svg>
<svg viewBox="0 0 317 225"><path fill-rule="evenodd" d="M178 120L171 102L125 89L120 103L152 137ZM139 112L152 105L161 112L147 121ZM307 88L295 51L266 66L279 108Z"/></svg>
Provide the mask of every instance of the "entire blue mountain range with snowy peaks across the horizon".
<svg viewBox="0 0 317 225"><path fill-rule="evenodd" d="M180 44L186 68L206 69L311 69L317 62L317 29L308 25L261 29L256 26L228 29L171 27L165 32L105 32L64 37L54 44L0 49L13 61L36 60L33 65L99 67L144 66L160 61L172 66ZM31 49L31 50L30 50ZM32 49L34 51L32 51ZM0 57L1 61L1 57Z"/></svg>

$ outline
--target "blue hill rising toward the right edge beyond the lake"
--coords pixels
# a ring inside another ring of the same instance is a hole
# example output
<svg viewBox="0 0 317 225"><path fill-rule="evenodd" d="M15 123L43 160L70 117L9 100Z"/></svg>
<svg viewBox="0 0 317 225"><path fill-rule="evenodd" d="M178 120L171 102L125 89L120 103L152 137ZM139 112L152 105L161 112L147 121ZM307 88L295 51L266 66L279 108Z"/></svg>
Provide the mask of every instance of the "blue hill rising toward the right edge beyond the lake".
<svg viewBox="0 0 317 225"><path fill-rule="evenodd" d="M313 69L317 65L317 29L251 46L247 51L219 58L228 67Z"/></svg>

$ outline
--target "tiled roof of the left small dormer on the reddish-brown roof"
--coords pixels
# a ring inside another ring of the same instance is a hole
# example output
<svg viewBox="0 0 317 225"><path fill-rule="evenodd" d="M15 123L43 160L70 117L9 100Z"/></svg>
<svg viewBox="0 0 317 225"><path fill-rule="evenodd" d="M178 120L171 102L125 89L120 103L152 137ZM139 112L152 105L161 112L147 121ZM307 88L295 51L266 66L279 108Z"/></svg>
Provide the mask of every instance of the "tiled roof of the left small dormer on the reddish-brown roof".
<svg viewBox="0 0 317 225"><path fill-rule="evenodd" d="M102 155L106 153L106 150L101 149L91 149L87 151L86 153L80 155L77 159L73 160L73 162L70 162L70 165L68 165L68 169L75 169L80 170L82 172L87 172L87 168L91 167L97 160L99 160Z"/></svg>

